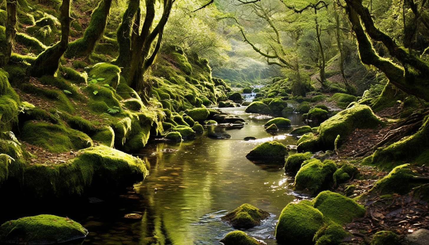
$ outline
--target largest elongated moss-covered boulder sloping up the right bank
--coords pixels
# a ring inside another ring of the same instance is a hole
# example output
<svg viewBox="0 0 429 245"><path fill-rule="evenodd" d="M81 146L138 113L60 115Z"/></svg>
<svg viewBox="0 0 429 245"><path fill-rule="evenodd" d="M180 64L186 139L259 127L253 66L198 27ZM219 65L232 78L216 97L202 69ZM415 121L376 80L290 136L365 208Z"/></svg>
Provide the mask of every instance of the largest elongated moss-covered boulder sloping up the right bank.
<svg viewBox="0 0 429 245"><path fill-rule="evenodd" d="M335 116L320 124L318 129L320 135L317 141L322 150L333 150L334 142L338 135L340 139L337 146L340 146L347 135L356 128L375 128L380 124L380 119L374 115L369 106L356 105L338 112Z"/></svg>

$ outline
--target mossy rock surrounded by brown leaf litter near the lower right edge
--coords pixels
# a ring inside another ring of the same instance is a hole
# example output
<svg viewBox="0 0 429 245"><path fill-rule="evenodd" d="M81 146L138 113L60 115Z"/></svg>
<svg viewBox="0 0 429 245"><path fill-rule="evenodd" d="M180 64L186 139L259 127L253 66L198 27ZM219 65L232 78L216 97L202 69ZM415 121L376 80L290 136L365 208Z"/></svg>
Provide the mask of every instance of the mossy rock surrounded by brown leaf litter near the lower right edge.
<svg viewBox="0 0 429 245"><path fill-rule="evenodd" d="M397 166L388 175L377 181L370 193L379 193L380 195L407 194L416 185L411 182L414 176L415 174L410 169L409 164Z"/></svg>

